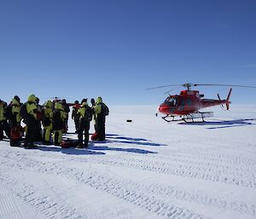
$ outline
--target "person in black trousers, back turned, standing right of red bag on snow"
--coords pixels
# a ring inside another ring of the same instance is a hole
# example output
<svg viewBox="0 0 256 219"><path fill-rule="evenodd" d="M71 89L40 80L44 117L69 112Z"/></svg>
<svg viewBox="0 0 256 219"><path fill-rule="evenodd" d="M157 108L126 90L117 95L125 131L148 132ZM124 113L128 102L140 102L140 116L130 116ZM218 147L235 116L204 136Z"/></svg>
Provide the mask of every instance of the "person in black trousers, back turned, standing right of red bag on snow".
<svg viewBox="0 0 256 219"><path fill-rule="evenodd" d="M86 99L84 99L86 100ZM79 114L79 148L88 147L90 121L92 119L91 109L87 101L82 101L82 105L78 111ZM83 132L84 132L84 145L83 145Z"/></svg>

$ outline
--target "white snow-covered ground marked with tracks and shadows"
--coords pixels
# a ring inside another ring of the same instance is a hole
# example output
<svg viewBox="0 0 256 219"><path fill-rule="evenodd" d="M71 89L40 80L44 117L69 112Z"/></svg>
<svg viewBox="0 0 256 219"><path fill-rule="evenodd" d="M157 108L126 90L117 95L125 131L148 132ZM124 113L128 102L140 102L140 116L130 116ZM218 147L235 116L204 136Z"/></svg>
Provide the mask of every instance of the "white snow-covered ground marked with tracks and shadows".
<svg viewBox="0 0 256 219"><path fill-rule="evenodd" d="M110 107L108 141L89 149L1 141L0 218L256 218L256 106L204 124L155 108Z"/></svg>

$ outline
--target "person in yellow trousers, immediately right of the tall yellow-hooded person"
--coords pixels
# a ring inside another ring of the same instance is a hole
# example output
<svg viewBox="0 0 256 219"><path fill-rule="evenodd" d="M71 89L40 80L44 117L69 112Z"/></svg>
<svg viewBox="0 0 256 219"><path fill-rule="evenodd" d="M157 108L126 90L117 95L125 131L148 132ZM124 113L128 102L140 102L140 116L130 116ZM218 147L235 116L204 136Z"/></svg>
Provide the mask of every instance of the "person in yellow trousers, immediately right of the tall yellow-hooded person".
<svg viewBox="0 0 256 219"><path fill-rule="evenodd" d="M52 101L46 101L44 103L41 114L42 114L42 123L44 126L43 142L45 145L49 145L49 139L52 132L52 116L53 116Z"/></svg>

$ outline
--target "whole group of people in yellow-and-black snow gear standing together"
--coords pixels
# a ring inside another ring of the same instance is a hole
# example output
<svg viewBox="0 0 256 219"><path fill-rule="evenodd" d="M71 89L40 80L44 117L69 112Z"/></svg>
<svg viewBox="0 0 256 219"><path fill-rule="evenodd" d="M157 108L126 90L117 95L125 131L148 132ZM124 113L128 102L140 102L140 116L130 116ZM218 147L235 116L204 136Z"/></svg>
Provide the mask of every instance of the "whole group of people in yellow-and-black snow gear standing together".
<svg viewBox="0 0 256 219"><path fill-rule="evenodd" d="M88 147L90 121L94 120L95 134L92 140L105 141L105 121L108 107L102 102L102 97L81 103L75 101L67 104L66 100L46 101L43 106L35 95L29 95L26 103L20 103L19 96L15 95L7 104L0 100L0 140L3 132L9 138L10 146L20 146L20 140L25 131L24 147L36 147L33 142L43 141L45 145L54 143L60 145L62 134L67 133L69 107L73 107L72 118L78 134L78 147ZM21 127L21 121L26 124ZM43 130L42 130L43 125ZM52 136L53 142L50 141Z"/></svg>

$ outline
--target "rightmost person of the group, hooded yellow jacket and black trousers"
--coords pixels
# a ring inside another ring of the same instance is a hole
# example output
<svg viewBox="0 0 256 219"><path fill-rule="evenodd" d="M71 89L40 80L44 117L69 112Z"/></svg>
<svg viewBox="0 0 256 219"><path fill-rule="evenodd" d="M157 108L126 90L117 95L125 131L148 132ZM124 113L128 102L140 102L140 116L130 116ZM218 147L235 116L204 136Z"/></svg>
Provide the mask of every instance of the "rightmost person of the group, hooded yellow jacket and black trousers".
<svg viewBox="0 0 256 219"><path fill-rule="evenodd" d="M96 133L97 139L99 141L105 141L105 122L106 116L109 113L108 107L102 102L102 97L98 97L96 100L96 105L94 107L94 113L96 117Z"/></svg>

